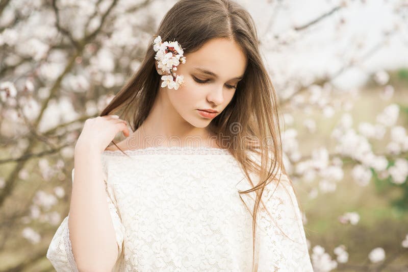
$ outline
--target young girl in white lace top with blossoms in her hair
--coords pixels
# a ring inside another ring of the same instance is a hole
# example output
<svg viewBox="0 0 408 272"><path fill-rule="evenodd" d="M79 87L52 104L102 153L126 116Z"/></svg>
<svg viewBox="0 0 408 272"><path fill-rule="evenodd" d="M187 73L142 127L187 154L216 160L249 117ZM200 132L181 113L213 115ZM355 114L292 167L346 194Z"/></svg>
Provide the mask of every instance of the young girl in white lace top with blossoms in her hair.
<svg viewBox="0 0 408 272"><path fill-rule="evenodd" d="M313 271L249 13L181 0L148 44L129 83L85 121L49 261L57 271ZM108 146L118 132L126 138Z"/></svg>

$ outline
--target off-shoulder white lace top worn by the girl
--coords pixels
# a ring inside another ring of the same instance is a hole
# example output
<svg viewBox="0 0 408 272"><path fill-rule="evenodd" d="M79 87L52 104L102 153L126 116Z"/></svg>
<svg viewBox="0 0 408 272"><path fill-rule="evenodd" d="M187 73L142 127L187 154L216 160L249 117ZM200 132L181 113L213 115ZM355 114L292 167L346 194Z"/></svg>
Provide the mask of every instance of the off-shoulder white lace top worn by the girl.
<svg viewBox="0 0 408 272"><path fill-rule="evenodd" d="M251 271L255 193L241 194L241 200L238 189L252 186L228 151L147 147L125 153L130 157L121 151L102 155L119 251L113 271ZM74 169L72 181L73 175ZM262 205L258 214L258 271L313 271L287 176L274 191L275 185L262 196L273 220ZM58 272L78 271L68 216L46 255Z"/></svg>

